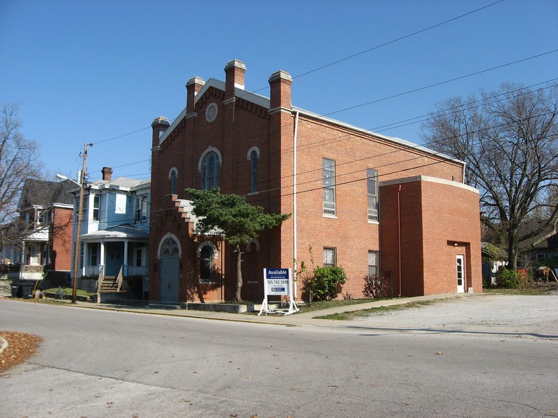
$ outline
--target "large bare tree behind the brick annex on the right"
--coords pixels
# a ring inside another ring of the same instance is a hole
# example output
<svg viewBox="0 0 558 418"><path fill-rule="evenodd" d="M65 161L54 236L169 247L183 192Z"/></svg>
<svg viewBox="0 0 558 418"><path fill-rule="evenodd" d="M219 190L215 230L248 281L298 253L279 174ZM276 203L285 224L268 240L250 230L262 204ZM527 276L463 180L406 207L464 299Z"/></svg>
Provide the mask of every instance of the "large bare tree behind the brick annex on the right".
<svg viewBox="0 0 558 418"><path fill-rule="evenodd" d="M502 238L508 268L515 269L525 242L540 242L531 238L553 231L558 220L558 89L503 84L479 94L437 104L423 138L467 163L467 183L481 192L483 222ZM536 231L520 228L541 213Z"/></svg>

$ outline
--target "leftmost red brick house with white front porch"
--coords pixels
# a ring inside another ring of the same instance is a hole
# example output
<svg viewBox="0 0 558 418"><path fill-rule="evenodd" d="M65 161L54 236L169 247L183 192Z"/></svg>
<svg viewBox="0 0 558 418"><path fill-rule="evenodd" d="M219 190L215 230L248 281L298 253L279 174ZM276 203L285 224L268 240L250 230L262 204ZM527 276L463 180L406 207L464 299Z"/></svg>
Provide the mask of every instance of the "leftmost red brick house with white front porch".
<svg viewBox="0 0 558 418"><path fill-rule="evenodd" d="M25 180L17 208L20 216L8 229L11 244L3 249L3 263L20 265L12 277L41 279L48 271L51 279L66 281L72 254L73 198L68 194L72 188L68 181Z"/></svg>

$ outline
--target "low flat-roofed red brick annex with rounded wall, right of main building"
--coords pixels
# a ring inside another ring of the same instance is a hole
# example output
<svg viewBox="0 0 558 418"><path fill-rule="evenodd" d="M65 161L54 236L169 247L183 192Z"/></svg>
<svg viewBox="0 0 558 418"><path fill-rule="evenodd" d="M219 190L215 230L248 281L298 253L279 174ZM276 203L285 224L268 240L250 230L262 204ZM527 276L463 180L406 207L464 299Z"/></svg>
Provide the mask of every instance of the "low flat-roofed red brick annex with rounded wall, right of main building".
<svg viewBox="0 0 558 418"><path fill-rule="evenodd" d="M465 291L482 292L478 193L472 187L407 178L381 185L380 199L382 269L393 272L395 294L400 290L399 269L404 296L455 293L457 255L465 256Z"/></svg>

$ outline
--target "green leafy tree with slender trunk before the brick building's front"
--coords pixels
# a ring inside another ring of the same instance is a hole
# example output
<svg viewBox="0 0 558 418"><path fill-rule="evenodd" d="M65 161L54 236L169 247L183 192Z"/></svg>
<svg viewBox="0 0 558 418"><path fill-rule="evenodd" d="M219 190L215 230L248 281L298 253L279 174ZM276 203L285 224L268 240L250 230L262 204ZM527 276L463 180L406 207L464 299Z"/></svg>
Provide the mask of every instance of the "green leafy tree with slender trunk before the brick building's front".
<svg viewBox="0 0 558 418"><path fill-rule="evenodd" d="M236 251L236 291L234 298L242 300L241 244L257 238L259 231L280 226L291 215L264 213L262 206L250 205L237 194L221 194L220 189L186 189L192 196L193 212L200 217L198 227L202 233L214 229L223 231L225 240Z"/></svg>

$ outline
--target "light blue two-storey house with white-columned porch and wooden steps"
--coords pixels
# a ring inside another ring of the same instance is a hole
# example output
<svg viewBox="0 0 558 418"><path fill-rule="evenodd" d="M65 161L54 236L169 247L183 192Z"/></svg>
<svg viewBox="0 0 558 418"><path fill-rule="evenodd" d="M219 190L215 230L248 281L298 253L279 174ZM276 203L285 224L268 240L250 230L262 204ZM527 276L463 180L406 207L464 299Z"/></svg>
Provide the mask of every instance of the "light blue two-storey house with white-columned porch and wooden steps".
<svg viewBox="0 0 558 418"><path fill-rule="evenodd" d="M149 262L149 180L113 180L110 167L102 173L102 180L87 183L84 190L77 277L78 286L90 291L97 291L103 280L114 284L107 290L120 288L131 277L146 281ZM76 213L79 190L73 190ZM77 222L74 244L76 232Z"/></svg>

